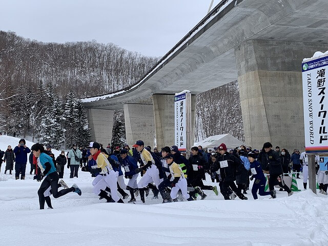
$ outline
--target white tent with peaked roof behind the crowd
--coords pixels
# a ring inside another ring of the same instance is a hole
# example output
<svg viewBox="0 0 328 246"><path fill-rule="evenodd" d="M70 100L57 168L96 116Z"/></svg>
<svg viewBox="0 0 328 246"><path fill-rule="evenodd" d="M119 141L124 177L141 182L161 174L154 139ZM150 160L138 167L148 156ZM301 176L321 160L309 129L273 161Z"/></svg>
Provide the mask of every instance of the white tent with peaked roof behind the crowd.
<svg viewBox="0 0 328 246"><path fill-rule="evenodd" d="M205 138L204 140L195 143L195 146L202 146L203 148L214 148L220 146L220 144L226 144L228 149L234 149L238 146L245 145L242 141L240 141L238 138L235 138L234 136L230 134L221 134L221 135L215 135L208 138Z"/></svg>

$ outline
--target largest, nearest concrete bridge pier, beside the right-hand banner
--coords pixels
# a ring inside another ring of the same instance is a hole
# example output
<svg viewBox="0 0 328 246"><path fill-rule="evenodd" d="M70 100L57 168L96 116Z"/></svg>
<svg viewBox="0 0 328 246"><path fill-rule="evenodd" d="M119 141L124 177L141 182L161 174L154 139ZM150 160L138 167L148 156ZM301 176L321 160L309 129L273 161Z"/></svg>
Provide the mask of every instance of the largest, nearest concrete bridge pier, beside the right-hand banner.
<svg viewBox="0 0 328 246"><path fill-rule="evenodd" d="M328 44L247 40L235 47L246 144L304 146L302 59Z"/></svg>

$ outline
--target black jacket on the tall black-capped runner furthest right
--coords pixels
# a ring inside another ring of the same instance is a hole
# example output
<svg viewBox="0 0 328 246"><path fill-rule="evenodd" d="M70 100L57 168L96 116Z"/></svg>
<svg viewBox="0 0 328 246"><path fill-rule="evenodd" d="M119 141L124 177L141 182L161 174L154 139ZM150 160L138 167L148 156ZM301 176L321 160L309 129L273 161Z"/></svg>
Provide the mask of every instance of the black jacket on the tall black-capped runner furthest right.
<svg viewBox="0 0 328 246"><path fill-rule="evenodd" d="M270 175L282 174L281 158L276 151L261 152L259 157L261 157L262 167L265 167L263 170L269 170Z"/></svg>

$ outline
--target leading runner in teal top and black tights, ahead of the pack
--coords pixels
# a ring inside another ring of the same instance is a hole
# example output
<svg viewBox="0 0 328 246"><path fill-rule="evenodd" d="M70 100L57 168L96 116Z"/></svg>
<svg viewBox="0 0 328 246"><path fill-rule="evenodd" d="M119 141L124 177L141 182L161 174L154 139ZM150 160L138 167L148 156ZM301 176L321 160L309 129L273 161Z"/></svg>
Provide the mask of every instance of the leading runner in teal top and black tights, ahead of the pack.
<svg viewBox="0 0 328 246"><path fill-rule="evenodd" d="M49 187L51 187L51 192L54 198L64 196L69 192L75 192L79 196L81 195L81 190L75 185L75 183L71 188L58 191L59 175L52 158L45 153L45 148L41 144L35 144L31 149L33 155L37 157L37 166L40 169L40 172L36 175L35 179L40 182L45 177L37 191L40 209L45 209L46 199L44 193Z"/></svg>

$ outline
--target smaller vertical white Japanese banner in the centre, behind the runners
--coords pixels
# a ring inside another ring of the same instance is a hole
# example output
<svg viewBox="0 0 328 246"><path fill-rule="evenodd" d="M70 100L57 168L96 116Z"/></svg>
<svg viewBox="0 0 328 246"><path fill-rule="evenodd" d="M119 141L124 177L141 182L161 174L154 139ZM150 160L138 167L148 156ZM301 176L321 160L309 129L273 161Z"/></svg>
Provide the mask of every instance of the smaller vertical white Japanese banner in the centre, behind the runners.
<svg viewBox="0 0 328 246"><path fill-rule="evenodd" d="M174 97L174 144L180 152L188 152L190 146L191 93L182 91Z"/></svg>

